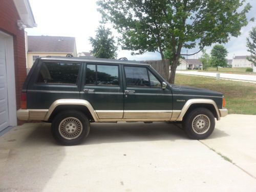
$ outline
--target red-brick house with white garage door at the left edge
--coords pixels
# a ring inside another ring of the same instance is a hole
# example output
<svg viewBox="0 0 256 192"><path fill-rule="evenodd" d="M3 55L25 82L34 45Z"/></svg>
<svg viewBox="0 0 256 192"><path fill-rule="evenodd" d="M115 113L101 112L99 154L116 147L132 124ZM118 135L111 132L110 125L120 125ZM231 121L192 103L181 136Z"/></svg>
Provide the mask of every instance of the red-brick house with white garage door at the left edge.
<svg viewBox="0 0 256 192"><path fill-rule="evenodd" d="M16 110L27 76L24 29L33 27L36 23L28 0L1 0L0 132L17 125Z"/></svg>

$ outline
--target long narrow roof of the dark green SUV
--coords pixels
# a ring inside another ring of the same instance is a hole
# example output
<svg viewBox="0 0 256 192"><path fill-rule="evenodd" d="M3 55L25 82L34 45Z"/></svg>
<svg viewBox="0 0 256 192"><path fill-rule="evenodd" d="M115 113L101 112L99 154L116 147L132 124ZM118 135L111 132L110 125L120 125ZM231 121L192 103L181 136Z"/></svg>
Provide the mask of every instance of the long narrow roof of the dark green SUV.
<svg viewBox="0 0 256 192"><path fill-rule="evenodd" d="M57 56L47 56L40 57L42 60L63 60L63 61L82 61L82 62L104 62L104 63L120 63L120 64L132 64L132 65L146 65L150 66L150 64L141 62L141 61L133 61L133 60L120 60L120 59L102 59L95 57L57 57Z"/></svg>

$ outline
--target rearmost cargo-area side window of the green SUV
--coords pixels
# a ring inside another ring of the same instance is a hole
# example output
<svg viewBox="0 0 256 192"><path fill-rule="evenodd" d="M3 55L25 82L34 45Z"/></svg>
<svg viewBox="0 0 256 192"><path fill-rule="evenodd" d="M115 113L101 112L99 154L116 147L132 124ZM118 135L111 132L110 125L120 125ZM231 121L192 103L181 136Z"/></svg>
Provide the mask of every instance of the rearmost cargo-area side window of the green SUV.
<svg viewBox="0 0 256 192"><path fill-rule="evenodd" d="M81 63L44 62L37 83L76 84Z"/></svg>

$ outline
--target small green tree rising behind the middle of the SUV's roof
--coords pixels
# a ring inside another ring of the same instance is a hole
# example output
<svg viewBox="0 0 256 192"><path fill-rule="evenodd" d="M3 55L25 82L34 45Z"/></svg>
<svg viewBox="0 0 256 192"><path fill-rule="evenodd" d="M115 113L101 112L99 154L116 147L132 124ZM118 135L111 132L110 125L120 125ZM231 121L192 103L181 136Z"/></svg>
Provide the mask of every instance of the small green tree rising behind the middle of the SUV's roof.
<svg viewBox="0 0 256 192"><path fill-rule="evenodd" d="M113 59L117 56L117 47L110 29L105 29L104 26L99 26L96 31L96 37L89 38L92 45L91 53L97 58Z"/></svg>

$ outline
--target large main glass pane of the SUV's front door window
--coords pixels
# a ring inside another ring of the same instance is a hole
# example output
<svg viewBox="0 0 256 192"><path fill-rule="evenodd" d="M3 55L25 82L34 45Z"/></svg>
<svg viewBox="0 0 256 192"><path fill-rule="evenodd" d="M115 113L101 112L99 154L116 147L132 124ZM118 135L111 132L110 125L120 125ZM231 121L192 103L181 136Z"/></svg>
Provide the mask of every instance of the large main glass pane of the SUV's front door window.
<svg viewBox="0 0 256 192"><path fill-rule="evenodd" d="M124 67L126 86L150 87L147 69L144 67Z"/></svg>

